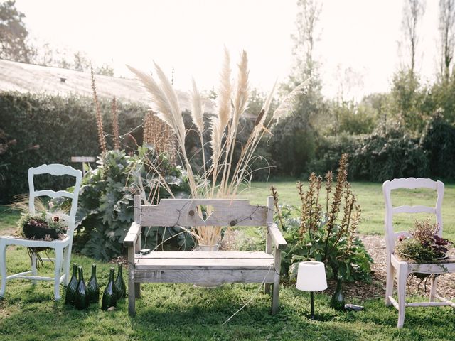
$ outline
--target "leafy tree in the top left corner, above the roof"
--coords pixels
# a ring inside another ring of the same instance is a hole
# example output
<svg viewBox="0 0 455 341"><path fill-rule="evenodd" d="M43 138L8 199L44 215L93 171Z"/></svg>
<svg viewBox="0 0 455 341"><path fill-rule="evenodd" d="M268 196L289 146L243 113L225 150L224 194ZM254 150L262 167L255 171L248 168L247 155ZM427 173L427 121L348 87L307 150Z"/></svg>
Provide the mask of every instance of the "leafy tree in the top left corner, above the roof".
<svg viewBox="0 0 455 341"><path fill-rule="evenodd" d="M16 9L16 1L0 4L0 58L28 63L31 48L27 44L28 31L23 18L25 14Z"/></svg>

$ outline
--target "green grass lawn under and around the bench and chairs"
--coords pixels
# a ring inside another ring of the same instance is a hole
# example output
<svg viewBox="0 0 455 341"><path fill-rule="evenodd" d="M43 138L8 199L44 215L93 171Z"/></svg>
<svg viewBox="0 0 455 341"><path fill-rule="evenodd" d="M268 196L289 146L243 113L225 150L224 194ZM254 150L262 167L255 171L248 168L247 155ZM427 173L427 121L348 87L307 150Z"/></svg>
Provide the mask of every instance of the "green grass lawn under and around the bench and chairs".
<svg viewBox="0 0 455 341"><path fill-rule="evenodd" d="M277 186L280 200L298 204L294 181L254 183L242 193L252 202L264 204L270 184ZM383 202L380 184L353 183L353 191L363 208L360 232L382 234ZM455 196L453 185L446 186L444 235L455 239L455 217L450 210ZM398 193L399 200L409 195ZM428 193L413 193L412 204L429 201ZM0 234L14 229L18 214L0 207ZM9 247L9 272L26 271L26 250ZM82 264L88 279L90 264L84 256L73 255ZM109 266L98 262L98 281L107 283ZM50 264L44 273L52 274ZM126 271L124 271L126 272ZM126 276L126 274L124 274ZM126 278L126 277L125 277ZM397 311L385 307L382 298L351 303L365 306L359 313L341 313L330 308L330 296L316 293L316 315L311 321L309 293L294 286L280 288L280 310L269 315L270 298L257 285L225 284L220 288L193 288L185 284L146 284L137 300L137 316L128 315L127 301L117 310L104 312L100 305L87 311L66 306L64 297L53 301L53 285L10 281L0 300L0 340L455 340L455 311L451 308L408 308L405 328L397 330ZM62 289L63 290L63 289ZM228 323L225 320L242 305L251 302ZM422 298L414 297L415 300Z"/></svg>

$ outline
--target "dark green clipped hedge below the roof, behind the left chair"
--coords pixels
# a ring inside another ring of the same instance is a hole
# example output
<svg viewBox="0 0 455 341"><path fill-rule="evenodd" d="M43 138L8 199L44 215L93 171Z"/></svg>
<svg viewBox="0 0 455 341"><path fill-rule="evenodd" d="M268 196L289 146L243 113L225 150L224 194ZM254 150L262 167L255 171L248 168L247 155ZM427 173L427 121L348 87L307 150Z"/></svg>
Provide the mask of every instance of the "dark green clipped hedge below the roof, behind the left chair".
<svg viewBox="0 0 455 341"><path fill-rule="evenodd" d="M100 99L107 143L111 144L111 102ZM129 150L142 143L141 123L146 112L145 104L117 100L122 144ZM11 201L14 195L27 193L28 168L43 163L70 163L71 156L97 156L97 125L95 105L90 97L67 97L45 94L0 92L1 129L9 144L0 155L0 203ZM132 131L134 130L134 131ZM132 134L127 134L132 131ZM34 147L34 146L39 146ZM136 149L136 148L134 148ZM42 178L42 188L66 187L69 179L50 184ZM60 187L61 186L61 187Z"/></svg>

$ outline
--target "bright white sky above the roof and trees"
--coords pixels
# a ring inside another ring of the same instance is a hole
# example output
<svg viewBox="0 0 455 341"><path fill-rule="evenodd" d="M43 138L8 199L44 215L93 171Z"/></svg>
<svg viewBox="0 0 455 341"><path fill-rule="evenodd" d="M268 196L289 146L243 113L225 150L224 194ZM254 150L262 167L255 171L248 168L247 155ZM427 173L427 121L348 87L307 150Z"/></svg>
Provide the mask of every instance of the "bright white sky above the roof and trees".
<svg viewBox="0 0 455 341"><path fill-rule="evenodd" d="M346 97L390 90L400 65L402 0L325 0L316 60L323 93L337 94L339 75L350 67L360 85ZM417 67L424 79L437 68L437 0L427 0L419 27ZM267 91L286 80L292 63L295 0L16 0L33 37L81 50L95 64L112 65L132 77L125 64L151 70L152 60L188 90L218 85L226 46L233 63L242 49L250 60L250 84ZM424 51L424 53L423 53ZM338 72L337 72L338 70ZM341 70L341 72L340 72Z"/></svg>

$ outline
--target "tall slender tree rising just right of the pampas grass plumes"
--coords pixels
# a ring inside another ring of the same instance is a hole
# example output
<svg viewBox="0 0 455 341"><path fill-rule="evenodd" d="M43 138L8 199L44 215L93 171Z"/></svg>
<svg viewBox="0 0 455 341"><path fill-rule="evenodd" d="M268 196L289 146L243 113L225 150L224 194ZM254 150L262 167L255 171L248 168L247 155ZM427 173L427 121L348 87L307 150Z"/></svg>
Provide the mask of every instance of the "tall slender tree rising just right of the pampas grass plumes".
<svg viewBox="0 0 455 341"><path fill-rule="evenodd" d="M294 68L289 82L282 85L285 92L311 77L311 85L305 94L296 99L293 112L274 126L274 138L270 146L279 171L300 175L315 156L316 119L322 117L323 97L319 65L314 58L314 46L319 40L317 23L321 14L321 3L316 0L298 0L294 40Z"/></svg>

